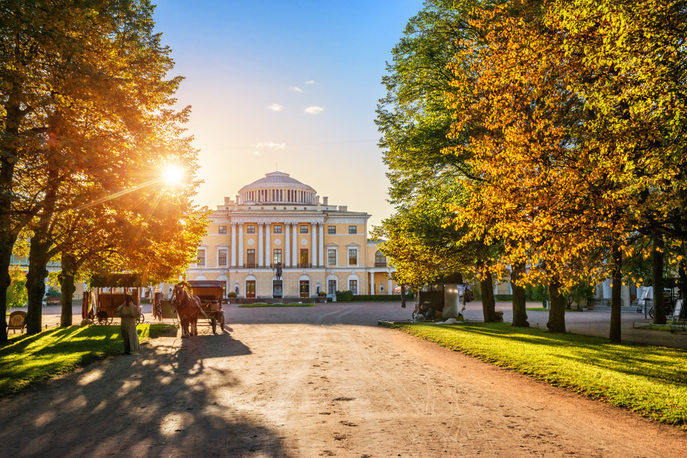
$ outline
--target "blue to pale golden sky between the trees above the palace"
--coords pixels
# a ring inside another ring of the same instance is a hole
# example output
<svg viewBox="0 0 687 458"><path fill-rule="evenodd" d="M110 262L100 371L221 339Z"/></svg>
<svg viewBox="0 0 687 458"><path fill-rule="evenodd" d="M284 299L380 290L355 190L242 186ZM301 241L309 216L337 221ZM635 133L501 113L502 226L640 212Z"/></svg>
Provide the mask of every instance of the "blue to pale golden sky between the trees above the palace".
<svg viewBox="0 0 687 458"><path fill-rule="evenodd" d="M173 50L172 73L186 78L179 105L192 106L189 133L201 149L196 203L220 205L278 163L330 203L368 211L374 225L389 216L374 110L385 61L422 7L159 1L157 31Z"/></svg>

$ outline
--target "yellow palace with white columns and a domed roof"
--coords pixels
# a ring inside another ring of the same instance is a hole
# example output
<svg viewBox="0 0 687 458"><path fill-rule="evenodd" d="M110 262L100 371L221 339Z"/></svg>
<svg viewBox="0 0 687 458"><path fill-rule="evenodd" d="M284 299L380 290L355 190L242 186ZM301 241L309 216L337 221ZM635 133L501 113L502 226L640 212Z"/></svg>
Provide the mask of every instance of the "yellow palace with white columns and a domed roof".
<svg viewBox="0 0 687 458"><path fill-rule="evenodd" d="M219 280L247 299L392 294L395 271L368 239L370 215L332 205L289 174L271 172L212 211L188 280ZM275 277L281 264L282 277Z"/></svg>

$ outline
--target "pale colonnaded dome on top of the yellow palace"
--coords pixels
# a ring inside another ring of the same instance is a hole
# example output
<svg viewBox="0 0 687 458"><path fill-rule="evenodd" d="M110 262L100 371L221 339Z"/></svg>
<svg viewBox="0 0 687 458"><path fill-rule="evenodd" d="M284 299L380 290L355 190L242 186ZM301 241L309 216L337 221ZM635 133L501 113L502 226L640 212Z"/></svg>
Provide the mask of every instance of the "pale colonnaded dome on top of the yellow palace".
<svg viewBox="0 0 687 458"><path fill-rule="evenodd" d="M288 173L275 171L238 190L241 203L314 204L317 192Z"/></svg>

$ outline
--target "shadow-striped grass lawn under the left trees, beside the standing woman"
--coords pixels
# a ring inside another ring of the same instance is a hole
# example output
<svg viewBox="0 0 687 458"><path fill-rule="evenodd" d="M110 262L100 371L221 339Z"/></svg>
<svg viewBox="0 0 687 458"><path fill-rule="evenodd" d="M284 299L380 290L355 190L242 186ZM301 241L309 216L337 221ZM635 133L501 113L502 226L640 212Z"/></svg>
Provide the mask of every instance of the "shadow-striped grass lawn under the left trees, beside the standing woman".
<svg viewBox="0 0 687 458"><path fill-rule="evenodd" d="M138 325L139 341L164 333L165 325ZM124 352L119 326L71 326L28 336L10 334L0 347L0 398L73 371L110 354Z"/></svg>

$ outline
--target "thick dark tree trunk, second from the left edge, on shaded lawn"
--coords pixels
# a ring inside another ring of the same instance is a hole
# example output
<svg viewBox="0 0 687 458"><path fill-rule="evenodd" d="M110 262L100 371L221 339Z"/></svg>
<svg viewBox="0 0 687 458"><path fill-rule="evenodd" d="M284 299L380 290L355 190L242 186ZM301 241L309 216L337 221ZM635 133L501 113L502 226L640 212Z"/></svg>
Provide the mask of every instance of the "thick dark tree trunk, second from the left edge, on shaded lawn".
<svg viewBox="0 0 687 458"><path fill-rule="evenodd" d="M38 334L43 325L43 297L45 297L45 278L47 277L47 263L50 260L47 251L50 242L34 233L29 249L29 272L26 274L26 291L29 304L26 314L27 334Z"/></svg>

